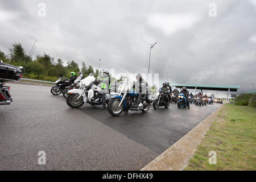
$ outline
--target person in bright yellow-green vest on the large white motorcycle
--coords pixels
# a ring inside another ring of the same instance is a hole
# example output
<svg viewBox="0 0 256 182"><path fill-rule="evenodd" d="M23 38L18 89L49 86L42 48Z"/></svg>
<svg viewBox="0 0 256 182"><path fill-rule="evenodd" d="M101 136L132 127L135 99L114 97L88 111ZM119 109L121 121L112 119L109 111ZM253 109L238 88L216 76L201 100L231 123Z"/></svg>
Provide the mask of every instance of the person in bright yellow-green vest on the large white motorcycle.
<svg viewBox="0 0 256 182"><path fill-rule="evenodd" d="M103 78L101 79L101 89L102 89L102 107L106 108L106 93L110 93L110 75L108 71L103 72Z"/></svg>

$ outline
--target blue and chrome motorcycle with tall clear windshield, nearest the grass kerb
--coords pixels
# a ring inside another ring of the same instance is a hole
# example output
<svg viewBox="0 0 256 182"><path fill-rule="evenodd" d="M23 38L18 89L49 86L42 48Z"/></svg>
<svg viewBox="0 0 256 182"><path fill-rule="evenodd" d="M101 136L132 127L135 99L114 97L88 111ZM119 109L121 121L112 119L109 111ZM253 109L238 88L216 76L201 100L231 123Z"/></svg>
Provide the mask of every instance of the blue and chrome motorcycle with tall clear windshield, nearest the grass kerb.
<svg viewBox="0 0 256 182"><path fill-rule="evenodd" d="M141 104L137 106L138 94L135 90L130 89L131 82L127 81L127 78L123 81L122 85L119 85L118 96L112 96L109 101L108 110L113 116L118 116L123 110L139 111L146 113L152 103L152 96L148 93L142 94Z"/></svg>

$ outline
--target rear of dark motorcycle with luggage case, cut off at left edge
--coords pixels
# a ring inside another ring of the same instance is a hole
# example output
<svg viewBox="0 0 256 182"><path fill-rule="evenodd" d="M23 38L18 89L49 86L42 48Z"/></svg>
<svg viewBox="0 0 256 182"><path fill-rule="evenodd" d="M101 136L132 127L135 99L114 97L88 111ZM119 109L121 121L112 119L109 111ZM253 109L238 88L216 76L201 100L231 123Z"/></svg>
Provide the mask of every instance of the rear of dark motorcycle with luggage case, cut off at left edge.
<svg viewBox="0 0 256 182"><path fill-rule="evenodd" d="M22 74L23 67L16 67L0 61L0 105L10 105L13 102L10 86L5 86L5 82L18 81Z"/></svg>

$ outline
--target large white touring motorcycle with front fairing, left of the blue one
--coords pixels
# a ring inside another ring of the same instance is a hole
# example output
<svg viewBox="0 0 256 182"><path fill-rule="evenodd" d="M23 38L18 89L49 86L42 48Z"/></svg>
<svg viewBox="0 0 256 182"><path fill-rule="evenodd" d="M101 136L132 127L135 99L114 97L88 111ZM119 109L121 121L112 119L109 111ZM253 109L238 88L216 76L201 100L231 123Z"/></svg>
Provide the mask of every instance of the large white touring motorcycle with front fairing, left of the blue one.
<svg viewBox="0 0 256 182"><path fill-rule="evenodd" d="M78 83L78 88L68 90L66 98L67 105L72 108L79 108L85 102L90 105L102 105L102 93L104 91L97 86L98 83L95 80L94 74L90 73L88 77ZM106 94L106 104L109 104L110 94Z"/></svg>

